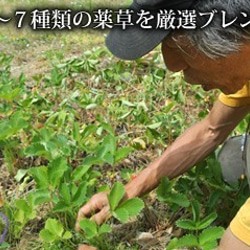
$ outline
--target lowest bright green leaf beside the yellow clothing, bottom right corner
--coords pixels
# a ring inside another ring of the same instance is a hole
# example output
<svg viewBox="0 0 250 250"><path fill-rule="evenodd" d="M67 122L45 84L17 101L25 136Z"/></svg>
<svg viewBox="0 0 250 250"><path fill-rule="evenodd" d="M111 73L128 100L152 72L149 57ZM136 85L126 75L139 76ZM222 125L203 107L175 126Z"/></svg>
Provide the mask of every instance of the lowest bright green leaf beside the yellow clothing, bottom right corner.
<svg viewBox="0 0 250 250"><path fill-rule="evenodd" d="M210 227L202 231L202 233L199 236L199 242L201 246L205 245L206 243L209 243L211 241L215 241L217 239L220 239L224 233L223 227Z"/></svg>

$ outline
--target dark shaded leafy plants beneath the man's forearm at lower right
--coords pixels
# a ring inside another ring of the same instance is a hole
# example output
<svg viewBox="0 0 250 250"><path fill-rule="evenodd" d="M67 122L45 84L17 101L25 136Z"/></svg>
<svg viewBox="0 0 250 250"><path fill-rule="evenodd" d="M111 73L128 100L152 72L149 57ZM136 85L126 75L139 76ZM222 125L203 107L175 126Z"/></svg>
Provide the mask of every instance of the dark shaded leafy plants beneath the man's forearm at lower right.
<svg viewBox="0 0 250 250"><path fill-rule="evenodd" d="M175 193L178 195L173 196ZM188 247L212 250L217 247L217 240L224 232L224 223L227 226L249 196L249 187L246 180L233 186L225 183L220 165L211 155L177 180L162 179L157 195L173 212L182 207L188 211L175 222L185 235L173 238L166 249ZM228 211L226 215L225 209Z"/></svg>

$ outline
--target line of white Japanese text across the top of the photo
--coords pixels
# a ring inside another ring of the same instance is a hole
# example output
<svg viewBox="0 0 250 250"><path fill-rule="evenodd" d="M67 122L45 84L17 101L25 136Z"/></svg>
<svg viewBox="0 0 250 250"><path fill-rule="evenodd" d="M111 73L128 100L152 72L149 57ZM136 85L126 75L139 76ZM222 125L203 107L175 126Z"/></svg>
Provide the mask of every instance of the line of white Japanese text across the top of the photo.
<svg viewBox="0 0 250 250"><path fill-rule="evenodd" d="M129 26L138 26L141 29L204 29L216 16L221 19L221 27L228 26L238 22L239 26L245 28L250 25L250 17L246 12L239 13L234 18L227 17L224 10L213 9L209 12L197 12L196 10L158 10L157 13L141 9L134 12L132 9L98 9L92 12L81 10L73 11L71 9L43 9L24 11L17 10L14 17L1 17L0 25L14 21L17 28L29 25L33 30L72 30L79 29L112 29L120 26L126 29ZM203 17L202 24L197 24L197 17Z"/></svg>

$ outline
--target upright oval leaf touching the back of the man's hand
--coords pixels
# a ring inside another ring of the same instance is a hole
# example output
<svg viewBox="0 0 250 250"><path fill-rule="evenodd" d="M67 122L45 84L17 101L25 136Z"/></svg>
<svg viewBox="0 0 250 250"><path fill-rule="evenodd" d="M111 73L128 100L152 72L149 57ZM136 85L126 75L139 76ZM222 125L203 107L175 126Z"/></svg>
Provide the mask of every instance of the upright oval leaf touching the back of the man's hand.
<svg viewBox="0 0 250 250"><path fill-rule="evenodd" d="M121 182L115 183L108 195L111 211L115 211L116 207L123 198L124 194L125 194L125 188L123 184Z"/></svg>

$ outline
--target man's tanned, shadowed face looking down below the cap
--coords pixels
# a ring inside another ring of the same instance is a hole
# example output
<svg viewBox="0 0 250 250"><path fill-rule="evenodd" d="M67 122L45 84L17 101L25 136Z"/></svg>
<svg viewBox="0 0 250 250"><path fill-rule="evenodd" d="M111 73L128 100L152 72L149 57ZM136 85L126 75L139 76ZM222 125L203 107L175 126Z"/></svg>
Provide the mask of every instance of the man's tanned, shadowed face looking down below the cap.
<svg viewBox="0 0 250 250"><path fill-rule="evenodd" d="M162 42L162 54L169 70L182 70L186 82L200 84L204 90L220 89L233 94L250 80L250 45L212 60L194 48L184 35L177 34Z"/></svg>

